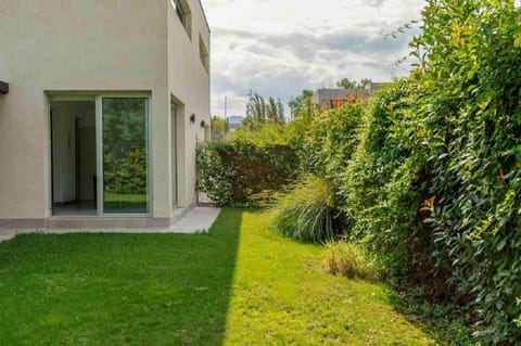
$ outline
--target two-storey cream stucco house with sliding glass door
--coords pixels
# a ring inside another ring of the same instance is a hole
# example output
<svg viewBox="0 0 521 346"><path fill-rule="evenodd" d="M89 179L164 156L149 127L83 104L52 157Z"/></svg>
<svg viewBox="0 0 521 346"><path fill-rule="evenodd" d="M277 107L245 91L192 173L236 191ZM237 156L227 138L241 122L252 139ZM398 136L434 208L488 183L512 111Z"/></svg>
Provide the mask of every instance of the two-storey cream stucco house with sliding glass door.
<svg viewBox="0 0 521 346"><path fill-rule="evenodd" d="M0 79L0 228L168 227L194 205L199 0L2 0Z"/></svg>

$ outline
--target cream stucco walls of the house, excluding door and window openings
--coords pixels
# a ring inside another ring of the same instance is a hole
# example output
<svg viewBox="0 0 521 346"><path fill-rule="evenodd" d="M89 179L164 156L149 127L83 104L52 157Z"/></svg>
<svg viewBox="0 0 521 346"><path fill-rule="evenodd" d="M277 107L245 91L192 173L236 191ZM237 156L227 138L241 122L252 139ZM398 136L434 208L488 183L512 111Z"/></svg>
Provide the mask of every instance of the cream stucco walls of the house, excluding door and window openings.
<svg viewBox="0 0 521 346"><path fill-rule="evenodd" d="M194 134L209 114L209 77L195 48L199 33L209 47L209 33L199 2L189 3L192 41L169 0L0 1L0 79L10 84L0 95L0 220L51 215L48 94L55 92L151 95L153 218L173 215L170 97L182 100L198 120L179 129L187 140L178 148L179 205L194 202Z"/></svg>

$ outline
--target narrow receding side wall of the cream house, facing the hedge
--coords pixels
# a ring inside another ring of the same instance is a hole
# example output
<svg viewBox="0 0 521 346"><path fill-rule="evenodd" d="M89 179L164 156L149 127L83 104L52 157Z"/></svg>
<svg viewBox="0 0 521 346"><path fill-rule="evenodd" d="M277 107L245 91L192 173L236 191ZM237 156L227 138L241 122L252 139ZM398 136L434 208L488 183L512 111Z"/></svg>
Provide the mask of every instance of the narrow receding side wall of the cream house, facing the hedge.
<svg viewBox="0 0 521 346"><path fill-rule="evenodd" d="M178 206L195 203L195 144L204 138L201 121L209 124L209 71L200 59L200 39L209 53L209 29L199 0L187 0L191 11L191 35L177 17L175 8L168 8L168 91L170 104L178 107ZM195 123L190 116L195 115ZM171 153L170 153L171 154ZM171 157L171 155L169 155ZM171 179L171 176L170 176Z"/></svg>

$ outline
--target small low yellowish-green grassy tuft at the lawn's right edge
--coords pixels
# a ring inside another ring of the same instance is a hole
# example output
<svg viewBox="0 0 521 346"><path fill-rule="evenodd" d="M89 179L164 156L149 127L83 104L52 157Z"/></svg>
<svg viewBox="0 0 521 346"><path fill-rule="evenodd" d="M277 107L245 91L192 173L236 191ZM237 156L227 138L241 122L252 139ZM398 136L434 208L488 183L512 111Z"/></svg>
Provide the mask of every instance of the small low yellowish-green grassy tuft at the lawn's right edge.
<svg viewBox="0 0 521 346"><path fill-rule="evenodd" d="M328 273L347 278L378 280L383 277L383 270L373 256L364 247L345 241L326 243L322 268Z"/></svg>

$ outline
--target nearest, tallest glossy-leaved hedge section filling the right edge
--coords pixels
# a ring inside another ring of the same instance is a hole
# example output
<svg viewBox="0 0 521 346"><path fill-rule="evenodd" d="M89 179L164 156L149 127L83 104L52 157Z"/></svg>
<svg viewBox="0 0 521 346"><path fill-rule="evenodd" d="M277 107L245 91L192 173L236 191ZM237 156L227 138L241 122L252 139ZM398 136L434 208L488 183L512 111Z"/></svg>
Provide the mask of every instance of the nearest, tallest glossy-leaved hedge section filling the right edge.
<svg viewBox="0 0 521 346"><path fill-rule="evenodd" d="M521 339L521 11L429 1L412 47L424 88L440 266L472 298L486 343ZM447 23L449 25L447 25Z"/></svg>

